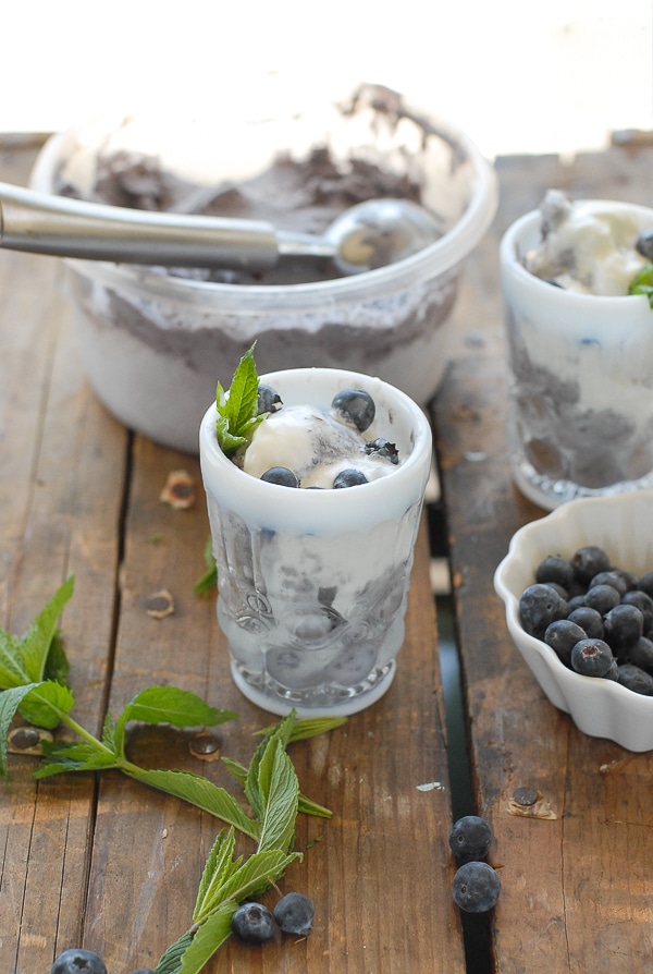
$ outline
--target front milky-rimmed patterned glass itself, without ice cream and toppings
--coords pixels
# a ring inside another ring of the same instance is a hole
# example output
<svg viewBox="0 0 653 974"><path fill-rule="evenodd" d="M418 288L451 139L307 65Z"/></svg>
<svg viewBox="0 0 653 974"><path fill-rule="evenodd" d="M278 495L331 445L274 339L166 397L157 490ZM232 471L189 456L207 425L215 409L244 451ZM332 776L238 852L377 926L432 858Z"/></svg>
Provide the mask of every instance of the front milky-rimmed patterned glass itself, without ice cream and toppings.
<svg viewBox="0 0 653 974"><path fill-rule="evenodd" d="M286 405L329 407L337 391L366 389L377 406L366 438L384 436L399 451L399 465L368 484L295 489L252 477L222 453L214 404L200 427L218 619L237 686L273 714L353 714L395 673L431 429L412 400L380 379L315 368L261 381Z"/></svg>

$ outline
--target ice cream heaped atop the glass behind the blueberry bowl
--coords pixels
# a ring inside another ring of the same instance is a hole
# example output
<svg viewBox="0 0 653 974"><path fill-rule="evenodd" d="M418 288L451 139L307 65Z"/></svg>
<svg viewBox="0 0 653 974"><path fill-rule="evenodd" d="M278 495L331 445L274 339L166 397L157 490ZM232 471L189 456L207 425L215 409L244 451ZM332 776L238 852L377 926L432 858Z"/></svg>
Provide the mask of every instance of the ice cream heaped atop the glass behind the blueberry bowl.
<svg viewBox="0 0 653 974"><path fill-rule="evenodd" d="M550 190L542 206L542 243L526 256L527 270L583 294L625 295L648 263L636 249L641 227L627 207L601 200L571 203Z"/></svg>

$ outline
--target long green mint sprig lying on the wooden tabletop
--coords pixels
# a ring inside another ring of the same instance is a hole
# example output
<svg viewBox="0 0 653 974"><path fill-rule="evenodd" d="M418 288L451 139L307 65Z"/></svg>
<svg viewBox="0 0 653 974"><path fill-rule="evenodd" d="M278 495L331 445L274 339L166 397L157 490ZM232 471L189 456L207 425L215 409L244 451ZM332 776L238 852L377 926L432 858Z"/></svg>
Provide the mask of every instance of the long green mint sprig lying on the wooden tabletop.
<svg viewBox="0 0 653 974"><path fill-rule="evenodd" d="M107 715L101 739L72 716L73 692L65 682L67 660L59 640L59 616L71 598L71 576L54 593L23 637L0 629L0 776L8 778L8 733L20 714L40 728L60 725L76 740L42 741L44 759L36 778L66 771L118 769L151 788L175 795L213 815L221 829L207 860L192 923L159 961L156 974L198 974L231 935L231 918L238 904L259 896L279 879L301 853L293 851L297 814L329 818L331 813L307 799L291 758L288 744L324 733L345 718L297 719L295 713L261 731L262 740L246 767L223 757L247 800L248 814L224 788L189 771L141 768L125 756L127 725L168 723L176 728L214 726L237 715L210 707L194 693L174 686L149 686L131 701L118 718ZM256 843L256 851L236 854L235 832Z"/></svg>

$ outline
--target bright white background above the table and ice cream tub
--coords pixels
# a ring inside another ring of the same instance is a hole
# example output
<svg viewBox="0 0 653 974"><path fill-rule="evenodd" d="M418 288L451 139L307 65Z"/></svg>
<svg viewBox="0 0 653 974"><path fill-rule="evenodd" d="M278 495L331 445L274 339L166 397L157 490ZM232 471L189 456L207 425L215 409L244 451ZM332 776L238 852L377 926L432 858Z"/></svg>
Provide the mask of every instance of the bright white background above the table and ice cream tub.
<svg viewBox="0 0 653 974"><path fill-rule="evenodd" d="M4 0L7 8L9 0ZM653 129L650 0L12 0L0 132L49 132L106 108L237 93L390 85L490 156L600 148Z"/></svg>

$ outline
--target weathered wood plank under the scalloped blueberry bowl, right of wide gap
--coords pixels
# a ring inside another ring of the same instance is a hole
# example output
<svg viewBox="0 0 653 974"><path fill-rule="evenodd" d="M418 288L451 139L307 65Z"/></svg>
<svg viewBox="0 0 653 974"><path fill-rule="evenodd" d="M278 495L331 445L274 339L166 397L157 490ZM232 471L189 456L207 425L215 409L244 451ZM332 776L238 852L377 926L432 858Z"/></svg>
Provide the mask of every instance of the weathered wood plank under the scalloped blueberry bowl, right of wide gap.
<svg viewBox="0 0 653 974"><path fill-rule="evenodd" d="M653 758L579 733L552 707L505 628L492 579L521 524L542 511L513 487L503 424L507 373L497 248L550 186L650 203L653 154L572 165L500 159L502 202L456 309L456 355L434 406L479 813L492 823L502 894L492 927L501 974L626 974L651 963ZM555 817L518 817L518 786Z"/></svg>

